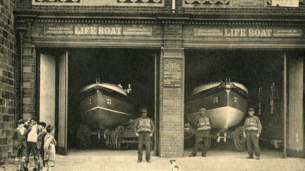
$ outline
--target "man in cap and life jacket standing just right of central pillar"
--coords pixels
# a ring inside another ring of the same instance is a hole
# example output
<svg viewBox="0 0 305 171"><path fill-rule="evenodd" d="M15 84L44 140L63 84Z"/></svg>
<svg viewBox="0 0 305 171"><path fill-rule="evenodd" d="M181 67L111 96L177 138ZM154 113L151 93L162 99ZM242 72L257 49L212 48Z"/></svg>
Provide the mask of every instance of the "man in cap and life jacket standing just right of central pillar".
<svg viewBox="0 0 305 171"><path fill-rule="evenodd" d="M198 119L197 125L195 128L197 128L196 133L196 141L195 146L192 149L192 154L190 157L195 157L198 151L198 148L201 146L201 141L203 141L202 146L202 157L207 157L207 149L211 145L211 136L210 136L210 130L211 130L211 124L209 118L205 115L205 108L199 109L200 111L200 118Z"/></svg>

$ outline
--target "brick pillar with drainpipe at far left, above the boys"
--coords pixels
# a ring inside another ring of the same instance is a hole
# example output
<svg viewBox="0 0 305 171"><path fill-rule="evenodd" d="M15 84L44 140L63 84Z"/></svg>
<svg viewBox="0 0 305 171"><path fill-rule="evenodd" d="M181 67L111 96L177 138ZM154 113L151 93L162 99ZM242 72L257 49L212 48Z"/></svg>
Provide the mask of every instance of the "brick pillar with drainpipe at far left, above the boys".
<svg viewBox="0 0 305 171"><path fill-rule="evenodd" d="M18 104L18 119L27 120L35 116L35 82L36 82L36 54L32 46L31 26L26 21L16 21L16 33L19 35L18 59L16 66L16 89ZM21 55L20 55L21 54ZM20 60L22 62L20 62Z"/></svg>

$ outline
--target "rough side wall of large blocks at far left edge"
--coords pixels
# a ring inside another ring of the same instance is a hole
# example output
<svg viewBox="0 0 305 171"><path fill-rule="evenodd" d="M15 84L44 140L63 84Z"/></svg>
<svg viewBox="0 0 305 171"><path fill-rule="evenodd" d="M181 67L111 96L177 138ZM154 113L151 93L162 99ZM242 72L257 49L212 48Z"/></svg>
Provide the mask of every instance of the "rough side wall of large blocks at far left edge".
<svg viewBox="0 0 305 171"><path fill-rule="evenodd" d="M15 127L15 1L0 1L0 164L12 151L12 132Z"/></svg>

